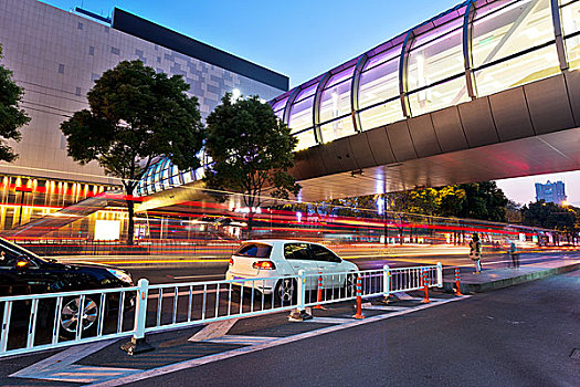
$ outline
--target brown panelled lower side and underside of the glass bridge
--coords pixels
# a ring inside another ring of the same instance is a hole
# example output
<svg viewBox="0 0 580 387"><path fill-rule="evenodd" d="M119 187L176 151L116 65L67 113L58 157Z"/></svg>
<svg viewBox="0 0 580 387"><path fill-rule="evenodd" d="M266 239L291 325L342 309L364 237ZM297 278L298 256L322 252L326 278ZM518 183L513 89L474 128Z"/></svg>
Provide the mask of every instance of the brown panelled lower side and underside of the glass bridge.
<svg viewBox="0 0 580 387"><path fill-rule="evenodd" d="M580 169L580 72L297 153L302 200Z"/></svg>

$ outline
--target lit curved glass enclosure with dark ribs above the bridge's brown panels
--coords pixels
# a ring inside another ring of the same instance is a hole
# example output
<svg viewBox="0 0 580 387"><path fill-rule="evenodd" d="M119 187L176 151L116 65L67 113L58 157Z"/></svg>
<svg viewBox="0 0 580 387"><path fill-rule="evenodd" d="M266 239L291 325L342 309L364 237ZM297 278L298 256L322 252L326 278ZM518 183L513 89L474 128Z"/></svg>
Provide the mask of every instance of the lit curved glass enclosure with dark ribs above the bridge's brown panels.
<svg viewBox="0 0 580 387"><path fill-rule="evenodd" d="M580 0L468 0L270 102L297 150L580 67Z"/></svg>

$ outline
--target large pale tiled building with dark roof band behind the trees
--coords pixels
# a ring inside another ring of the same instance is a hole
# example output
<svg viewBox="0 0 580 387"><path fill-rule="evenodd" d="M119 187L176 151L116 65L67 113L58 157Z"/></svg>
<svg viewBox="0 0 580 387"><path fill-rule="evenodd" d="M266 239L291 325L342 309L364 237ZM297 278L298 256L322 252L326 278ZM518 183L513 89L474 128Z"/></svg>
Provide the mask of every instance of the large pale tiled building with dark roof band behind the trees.
<svg viewBox="0 0 580 387"><path fill-rule="evenodd" d="M21 106L32 118L22 140L10 143L19 158L0 163L0 229L119 185L96 163L67 157L60 125L87 107L95 80L120 61L182 75L202 117L226 92L271 100L288 88L282 74L119 9L108 22L36 0L0 0L0 63L24 88Z"/></svg>

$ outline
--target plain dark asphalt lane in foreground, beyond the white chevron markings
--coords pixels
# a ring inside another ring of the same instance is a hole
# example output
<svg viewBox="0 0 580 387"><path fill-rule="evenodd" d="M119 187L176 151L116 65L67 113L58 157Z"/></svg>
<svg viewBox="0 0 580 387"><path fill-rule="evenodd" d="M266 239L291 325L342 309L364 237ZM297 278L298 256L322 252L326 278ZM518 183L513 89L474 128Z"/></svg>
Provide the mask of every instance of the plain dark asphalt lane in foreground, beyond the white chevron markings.
<svg viewBox="0 0 580 387"><path fill-rule="evenodd" d="M578 386L580 271L134 386Z"/></svg>

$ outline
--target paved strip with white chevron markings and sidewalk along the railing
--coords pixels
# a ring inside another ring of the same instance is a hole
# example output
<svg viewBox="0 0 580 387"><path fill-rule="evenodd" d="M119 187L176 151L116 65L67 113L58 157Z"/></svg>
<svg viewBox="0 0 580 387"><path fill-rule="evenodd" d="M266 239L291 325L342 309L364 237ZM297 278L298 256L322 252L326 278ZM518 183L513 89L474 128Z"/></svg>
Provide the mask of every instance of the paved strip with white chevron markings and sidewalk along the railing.
<svg viewBox="0 0 580 387"><path fill-rule="evenodd" d="M391 318L405 318L412 322L415 313L418 316L424 316L425 313L434 313L430 312L433 307L445 307L444 305L451 303L470 300L473 297L468 294L471 292L488 292L579 268L578 258L538 260L537 263L528 262L520 269L489 264L488 268L484 266L483 273L478 275L473 274L470 266L464 266L461 270L462 291L467 295L457 297L451 293L454 285L454 271L446 270L445 286L441 291L431 292L430 304L421 302L423 299L421 292L397 294L387 305L381 303L380 299L367 300L363 305L363 313L367 316L365 320L352 318L352 302L348 302L334 304L326 311L314 311L315 318L302 323L289 323L287 313L277 313L239 320L225 328L215 325L193 326L149 335L148 342L155 351L136 356L128 356L119 349L120 344L126 342L122 339L7 358L0 360L0 385L119 386L127 383L141 383L152 377L170 375L214 362L240 360L239 356L242 355L316 339L320 335L337 334L369 323ZM361 337L360 343L372 339L371 336L365 336ZM181 385L187 385L187 379L180 380L184 383Z"/></svg>

